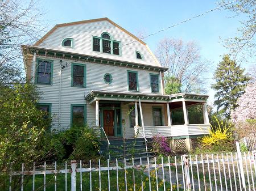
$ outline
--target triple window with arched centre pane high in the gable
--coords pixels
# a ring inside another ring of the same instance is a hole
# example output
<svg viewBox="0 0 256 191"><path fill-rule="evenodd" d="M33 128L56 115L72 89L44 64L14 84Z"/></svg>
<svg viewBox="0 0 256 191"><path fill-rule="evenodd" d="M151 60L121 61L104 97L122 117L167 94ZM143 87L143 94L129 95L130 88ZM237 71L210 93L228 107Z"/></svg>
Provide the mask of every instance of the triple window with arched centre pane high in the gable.
<svg viewBox="0 0 256 191"><path fill-rule="evenodd" d="M120 55L120 42L113 40L109 33L102 33L101 37L93 36L93 51Z"/></svg>

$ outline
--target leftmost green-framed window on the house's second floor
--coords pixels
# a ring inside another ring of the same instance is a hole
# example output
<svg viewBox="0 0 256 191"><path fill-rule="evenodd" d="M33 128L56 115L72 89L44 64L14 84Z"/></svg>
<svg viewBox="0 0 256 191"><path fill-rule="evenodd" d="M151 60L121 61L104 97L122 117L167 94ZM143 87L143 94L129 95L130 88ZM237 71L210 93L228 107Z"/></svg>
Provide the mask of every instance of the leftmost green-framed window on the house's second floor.
<svg viewBox="0 0 256 191"><path fill-rule="evenodd" d="M36 83L52 84L52 61L38 60Z"/></svg>

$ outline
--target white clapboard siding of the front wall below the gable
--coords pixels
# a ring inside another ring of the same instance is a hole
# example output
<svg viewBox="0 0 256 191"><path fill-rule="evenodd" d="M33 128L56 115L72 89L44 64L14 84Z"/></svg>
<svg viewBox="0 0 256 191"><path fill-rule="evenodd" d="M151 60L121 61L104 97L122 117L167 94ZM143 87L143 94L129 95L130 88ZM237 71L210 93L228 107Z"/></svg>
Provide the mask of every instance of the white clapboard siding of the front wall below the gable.
<svg viewBox="0 0 256 191"><path fill-rule="evenodd" d="M59 85L60 85L60 67L59 59L37 57L38 59L53 60L53 79L52 85L38 84L39 90L42 92L42 98L39 103L51 103L52 114L55 116L53 121L53 128L58 128L59 121ZM145 71L139 69L128 69L121 66L103 65L100 63L79 62L86 65L86 88L72 87L71 86L71 61L63 60L63 63L69 63L68 67L61 70L61 112L60 112L60 124L62 129L70 127L71 121L71 104L86 104L84 99L91 90L101 91L117 91L117 92L130 92L127 86L127 70L138 72L139 92L144 94L151 94L150 87L150 73L152 71ZM78 63L78 62L76 62ZM112 83L106 84L104 82L104 75L110 73L112 75ZM155 72L155 74L159 74ZM159 79L160 82L160 79ZM159 83L161 86L162 83ZM162 87L160 87L162 88ZM160 94L160 93L158 93ZM145 107L145 108L144 108ZM145 116L149 116L148 120L145 120L145 125L152 125L152 112L150 104L146 104L143 109ZM87 105L87 121L88 124L94 124L95 122L95 105ZM123 109L122 109L123 111ZM127 111L124 111L127 112ZM122 116L124 113L122 113ZM56 117L57 116L57 117ZM151 120L151 121L150 121Z"/></svg>

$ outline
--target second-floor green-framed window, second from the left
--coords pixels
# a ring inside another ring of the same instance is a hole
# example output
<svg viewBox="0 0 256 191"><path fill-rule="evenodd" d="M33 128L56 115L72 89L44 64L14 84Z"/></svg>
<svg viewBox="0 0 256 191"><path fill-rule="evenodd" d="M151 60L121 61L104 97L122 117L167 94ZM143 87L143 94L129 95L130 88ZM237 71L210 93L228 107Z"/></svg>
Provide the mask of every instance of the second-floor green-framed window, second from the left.
<svg viewBox="0 0 256 191"><path fill-rule="evenodd" d="M86 87L86 67L80 63L72 63L72 86Z"/></svg>

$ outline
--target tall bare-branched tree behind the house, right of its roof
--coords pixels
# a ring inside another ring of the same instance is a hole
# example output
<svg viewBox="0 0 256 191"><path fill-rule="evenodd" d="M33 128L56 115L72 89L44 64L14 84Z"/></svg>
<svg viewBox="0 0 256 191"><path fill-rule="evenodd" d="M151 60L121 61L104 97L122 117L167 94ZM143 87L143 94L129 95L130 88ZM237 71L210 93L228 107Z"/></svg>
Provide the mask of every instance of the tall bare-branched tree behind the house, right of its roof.
<svg viewBox="0 0 256 191"><path fill-rule="evenodd" d="M156 57L162 66L168 67L166 77L175 78L182 84L181 91L205 92L204 75L209 61L200 56L200 47L194 41L165 37L157 46Z"/></svg>

